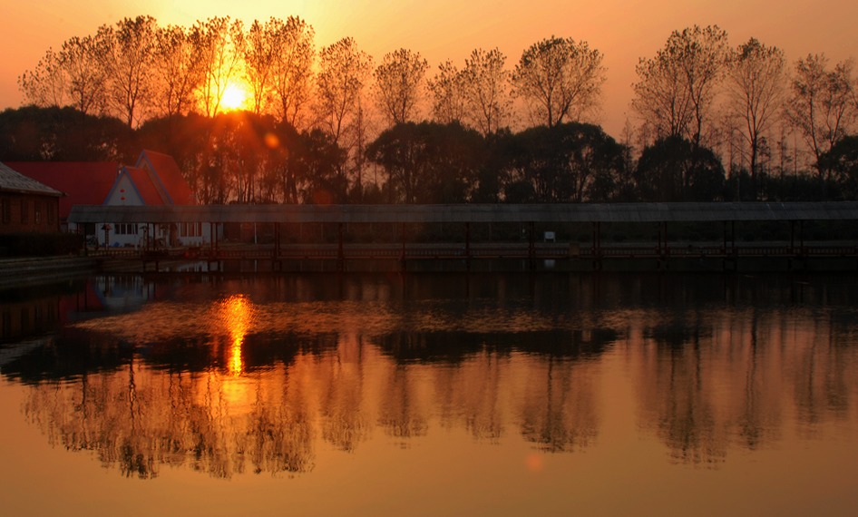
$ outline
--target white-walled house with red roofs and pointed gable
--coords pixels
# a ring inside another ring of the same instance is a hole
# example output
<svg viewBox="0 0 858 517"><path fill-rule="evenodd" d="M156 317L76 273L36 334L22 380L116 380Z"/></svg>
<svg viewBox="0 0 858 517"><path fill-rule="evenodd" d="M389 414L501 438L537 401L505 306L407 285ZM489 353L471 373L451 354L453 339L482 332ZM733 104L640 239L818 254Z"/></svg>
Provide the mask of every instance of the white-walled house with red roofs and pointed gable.
<svg viewBox="0 0 858 517"><path fill-rule="evenodd" d="M142 151L133 166L113 161L18 161L9 167L44 182L66 197L60 203L63 229L83 231L101 246L142 247L156 239L159 245L198 246L210 242L210 226L188 222L151 228L133 223L104 221L77 228L68 222L73 205L159 206L196 204L188 182L171 156Z"/></svg>

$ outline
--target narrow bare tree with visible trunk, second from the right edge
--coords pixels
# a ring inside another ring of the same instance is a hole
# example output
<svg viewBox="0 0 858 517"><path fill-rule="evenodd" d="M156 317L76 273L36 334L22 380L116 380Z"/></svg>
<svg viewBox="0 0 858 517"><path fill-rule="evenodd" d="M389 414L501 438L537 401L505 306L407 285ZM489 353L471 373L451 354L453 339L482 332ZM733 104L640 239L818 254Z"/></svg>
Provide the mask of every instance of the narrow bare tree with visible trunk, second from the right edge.
<svg viewBox="0 0 858 517"><path fill-rule="evenodd" d="M751 38L732 52L729 63L729 110L743 126L742 135L750 151L751 180L756 183L761 142L782 111L786 58L781 49Z"/></svg>

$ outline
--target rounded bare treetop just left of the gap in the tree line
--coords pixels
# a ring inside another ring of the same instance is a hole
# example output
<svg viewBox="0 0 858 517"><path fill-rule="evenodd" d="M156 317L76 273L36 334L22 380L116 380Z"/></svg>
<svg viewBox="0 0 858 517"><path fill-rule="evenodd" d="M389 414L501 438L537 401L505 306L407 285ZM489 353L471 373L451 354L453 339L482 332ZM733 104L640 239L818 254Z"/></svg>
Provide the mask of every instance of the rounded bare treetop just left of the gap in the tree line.
<svg viewBox="0 0 858 517"><path fill-rule="evenodd" d="M534 121L548 127L580 122L599 102L605 82L602 54L572 38L544 39L522 53L512 72L516 95L528 104Z"/></svg>

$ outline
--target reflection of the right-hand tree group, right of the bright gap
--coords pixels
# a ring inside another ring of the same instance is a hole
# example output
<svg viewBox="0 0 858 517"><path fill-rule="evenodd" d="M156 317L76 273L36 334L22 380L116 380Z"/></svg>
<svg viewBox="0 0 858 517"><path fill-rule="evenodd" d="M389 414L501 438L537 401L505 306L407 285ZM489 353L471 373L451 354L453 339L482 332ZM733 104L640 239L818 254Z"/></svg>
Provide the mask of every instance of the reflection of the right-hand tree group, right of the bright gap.
<svg viewBox="0 0 858 517"><path fill-rule="evenodd" d="M847 345L856 342L852 315L838 322L810 311L748 308L687 316L694 319L650 316L639 348L644 426L678 463L721 463L732 444L771 446L790 397L800 433L847 417L858 393Z"/></svg>

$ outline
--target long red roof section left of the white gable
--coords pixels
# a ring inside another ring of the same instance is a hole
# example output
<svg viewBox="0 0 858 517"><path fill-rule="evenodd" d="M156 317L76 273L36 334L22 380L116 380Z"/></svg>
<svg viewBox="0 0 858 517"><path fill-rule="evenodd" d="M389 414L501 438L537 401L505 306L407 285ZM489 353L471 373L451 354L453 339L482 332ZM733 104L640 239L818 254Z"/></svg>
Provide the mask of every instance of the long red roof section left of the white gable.
<svg viewBox="0 0 858 517"><path fill-rule="evenodd" d="M60 198L60 218L72 205L101 205L119 173L115 161L6 161L11 169L66 194Z"/></svg>

